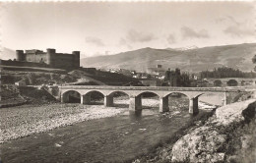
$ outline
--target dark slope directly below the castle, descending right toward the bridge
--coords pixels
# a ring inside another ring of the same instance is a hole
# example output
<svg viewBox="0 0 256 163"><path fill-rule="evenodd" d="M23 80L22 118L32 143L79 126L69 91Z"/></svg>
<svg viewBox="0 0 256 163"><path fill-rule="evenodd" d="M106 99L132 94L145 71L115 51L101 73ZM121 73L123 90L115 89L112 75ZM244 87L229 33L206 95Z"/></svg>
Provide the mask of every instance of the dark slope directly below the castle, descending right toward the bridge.
<svg viewBox="0 0 256 163"><path fill-rule="evenodd" d="M56 84L99 84L99 85L126 85L130 82L138 82L137 79L126 77L121 74L101 72L95 70L74 70L67 72L44 72L44 71L12 71L2 70L2 84L14 84L16 81L26 81L29 85L48 84L50 82Z"/></svg>

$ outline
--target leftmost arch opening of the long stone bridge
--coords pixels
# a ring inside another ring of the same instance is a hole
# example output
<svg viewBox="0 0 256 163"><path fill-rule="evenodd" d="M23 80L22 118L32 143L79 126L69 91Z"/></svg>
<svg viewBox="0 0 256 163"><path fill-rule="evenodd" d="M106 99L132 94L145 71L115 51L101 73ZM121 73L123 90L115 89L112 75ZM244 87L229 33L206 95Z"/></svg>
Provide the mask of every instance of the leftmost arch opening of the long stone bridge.
<svg viewBox="0 0 256 163"><path fill-rule="evenodd" d="M76 90L67 90L62 93L61 102L64 103L80 103L81 93Z"/></svg>

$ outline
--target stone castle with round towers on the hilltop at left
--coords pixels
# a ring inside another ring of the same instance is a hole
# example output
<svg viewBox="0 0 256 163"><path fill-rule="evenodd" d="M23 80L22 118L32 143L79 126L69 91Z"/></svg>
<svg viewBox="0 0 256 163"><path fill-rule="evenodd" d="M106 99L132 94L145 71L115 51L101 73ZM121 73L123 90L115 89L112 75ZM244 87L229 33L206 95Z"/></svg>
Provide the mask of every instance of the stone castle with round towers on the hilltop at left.
<svg viewBox="0 0 256 163"><path fill-rule="evenodd" d="M75 69L80 67L80 51L72 54L56 53L55 49L41 50L16 50L16 60L19 62L39 63L51 68Z"/></svg>

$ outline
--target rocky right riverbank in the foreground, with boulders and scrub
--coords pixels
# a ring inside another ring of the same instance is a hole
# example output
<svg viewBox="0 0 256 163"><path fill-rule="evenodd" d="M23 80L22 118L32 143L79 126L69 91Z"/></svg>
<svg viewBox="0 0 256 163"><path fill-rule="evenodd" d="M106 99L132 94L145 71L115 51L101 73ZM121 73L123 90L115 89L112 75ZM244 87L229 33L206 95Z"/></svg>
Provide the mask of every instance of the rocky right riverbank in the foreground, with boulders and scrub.
<svg viewBox="0 0 256 163"><path fill-rule="evenodd" d="M178 140L159 147L139 162L255 162L256 99L217 109L205 123L198 122Z"/></svg>

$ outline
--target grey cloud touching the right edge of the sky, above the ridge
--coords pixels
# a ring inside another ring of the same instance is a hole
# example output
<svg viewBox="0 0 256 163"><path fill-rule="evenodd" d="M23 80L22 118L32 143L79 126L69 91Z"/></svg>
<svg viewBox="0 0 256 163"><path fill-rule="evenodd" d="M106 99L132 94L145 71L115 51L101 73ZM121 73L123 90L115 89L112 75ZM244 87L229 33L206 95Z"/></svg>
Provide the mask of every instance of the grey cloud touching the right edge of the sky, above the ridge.
<svg viewBox="0 0 256 163"><path fill-rule="evenodd" d="M253 28L246 28L241 26L230 26L224 29L224 32L232 36L254 36L255 30Z"/></svg>

